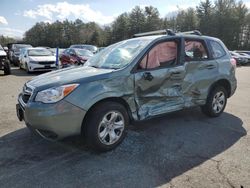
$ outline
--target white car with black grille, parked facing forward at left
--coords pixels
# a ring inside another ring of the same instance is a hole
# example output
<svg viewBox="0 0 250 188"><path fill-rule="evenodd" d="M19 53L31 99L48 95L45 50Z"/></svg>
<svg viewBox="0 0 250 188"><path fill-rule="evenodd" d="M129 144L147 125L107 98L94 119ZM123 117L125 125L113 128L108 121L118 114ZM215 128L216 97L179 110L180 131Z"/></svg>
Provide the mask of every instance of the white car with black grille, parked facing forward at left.
<svg viewBox="0 0 250 188"><path fill-rule="evenodd" d="M20 68L27 73L56 69L56 57L46 48L25 48L20 56Z"/></svg>

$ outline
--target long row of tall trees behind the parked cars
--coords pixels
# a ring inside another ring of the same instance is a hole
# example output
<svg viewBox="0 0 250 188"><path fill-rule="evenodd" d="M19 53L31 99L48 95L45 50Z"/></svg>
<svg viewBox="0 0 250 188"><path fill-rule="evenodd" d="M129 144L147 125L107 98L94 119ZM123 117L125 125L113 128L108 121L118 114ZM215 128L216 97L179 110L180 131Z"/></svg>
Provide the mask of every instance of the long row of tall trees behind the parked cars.
<svg viewBox="0 0 250 188"><path fill-rule="evenodd" d="M250 48L249 9L242 1L236 0L216 0L214 3L203 0L196 9L180 9L170 18L160 18L155 7L136 6L106 26L84 23L80 19L51 24L39 22L25 33L24 40L33 46L67 48L76 43L107 46L131 38L135 33L167 28L174 31L198 29L205 35L220 38L230 49ZM3 40L0 37L0 41Z"/></svg>

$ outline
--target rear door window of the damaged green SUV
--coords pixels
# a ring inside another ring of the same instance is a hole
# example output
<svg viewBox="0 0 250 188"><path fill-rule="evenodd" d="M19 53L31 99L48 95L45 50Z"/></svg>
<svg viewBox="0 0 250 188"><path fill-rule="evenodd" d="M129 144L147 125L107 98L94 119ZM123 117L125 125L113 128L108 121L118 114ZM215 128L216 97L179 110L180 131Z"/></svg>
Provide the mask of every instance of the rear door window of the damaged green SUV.
<svg viewBox="0 0 250 188"><path fill-rule="evenodd" d="M208 59L204 45L199 41L185 41L185 60L199 61Z"/></svg>

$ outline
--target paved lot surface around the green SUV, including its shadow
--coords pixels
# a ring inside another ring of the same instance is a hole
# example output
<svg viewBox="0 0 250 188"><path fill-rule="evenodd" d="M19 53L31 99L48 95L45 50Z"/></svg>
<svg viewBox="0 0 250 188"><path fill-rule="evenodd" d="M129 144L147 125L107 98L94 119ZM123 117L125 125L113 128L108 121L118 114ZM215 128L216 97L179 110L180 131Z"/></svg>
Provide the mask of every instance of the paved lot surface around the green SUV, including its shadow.
<svg viewBox="0 0 250 188"><path fill-rule="evenodd" d="M78 137L31 134L15 104L35 75L1 74L0 187L250 187L250 67L237 68L238 89L221 117L194 108L136 123L102 154Z"/></svg>

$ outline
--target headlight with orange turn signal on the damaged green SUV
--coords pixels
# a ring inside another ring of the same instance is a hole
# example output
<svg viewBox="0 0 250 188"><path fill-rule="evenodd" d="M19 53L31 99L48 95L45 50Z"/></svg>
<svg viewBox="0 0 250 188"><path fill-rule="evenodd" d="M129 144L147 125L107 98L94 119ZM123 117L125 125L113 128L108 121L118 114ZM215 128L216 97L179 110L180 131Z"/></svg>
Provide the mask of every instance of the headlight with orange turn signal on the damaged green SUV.
<svg viewBox="0 0 250 188"><path fill-rule="evenodd" d="M68 84L59 87L49 88L37 93L35 101L43 103L55 103L70 94L79 84Z"/></svg>

